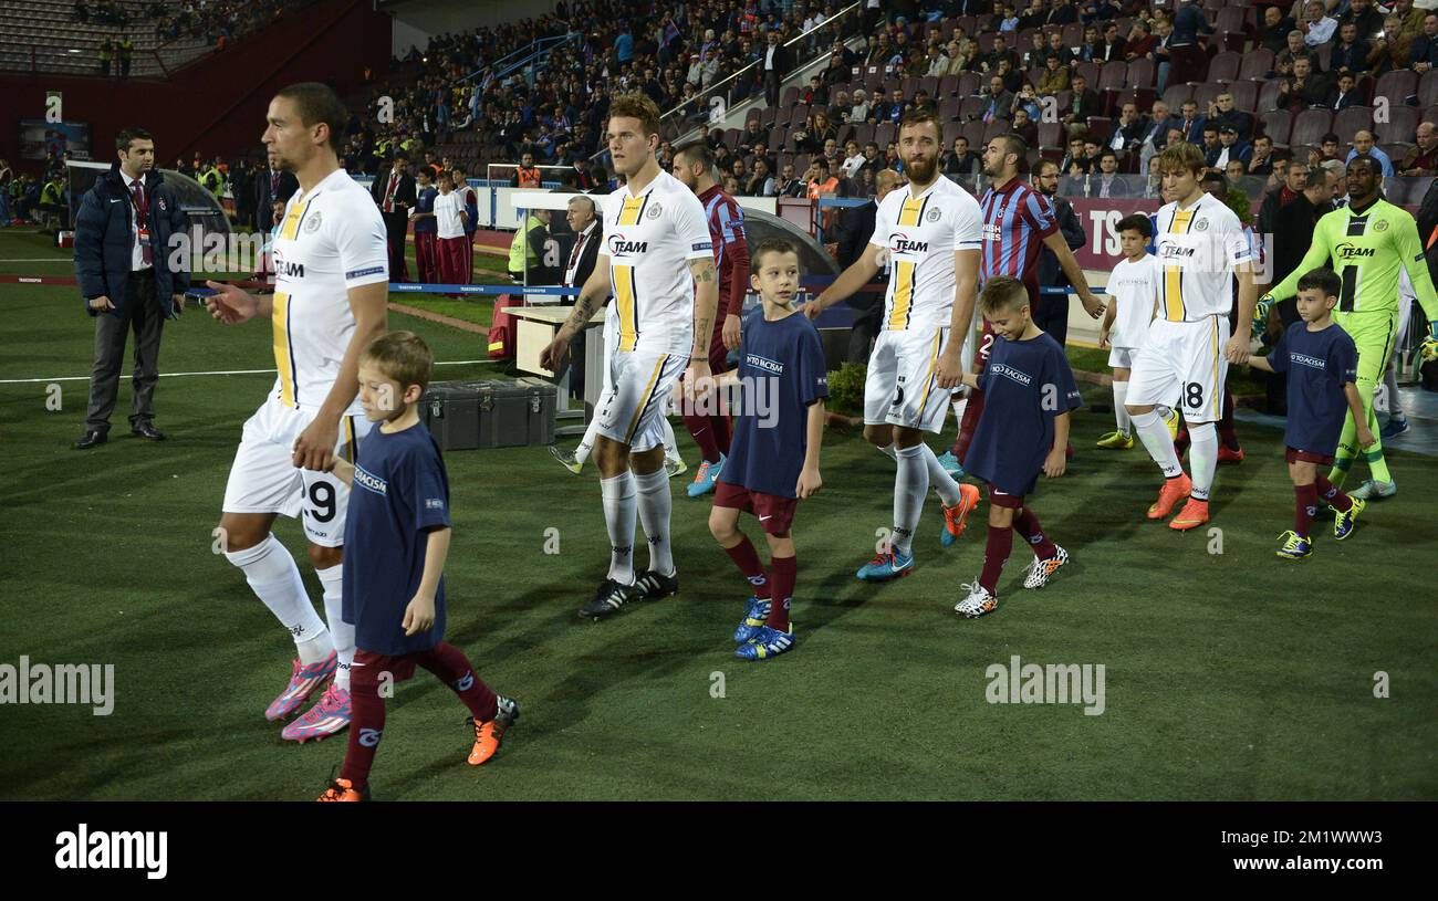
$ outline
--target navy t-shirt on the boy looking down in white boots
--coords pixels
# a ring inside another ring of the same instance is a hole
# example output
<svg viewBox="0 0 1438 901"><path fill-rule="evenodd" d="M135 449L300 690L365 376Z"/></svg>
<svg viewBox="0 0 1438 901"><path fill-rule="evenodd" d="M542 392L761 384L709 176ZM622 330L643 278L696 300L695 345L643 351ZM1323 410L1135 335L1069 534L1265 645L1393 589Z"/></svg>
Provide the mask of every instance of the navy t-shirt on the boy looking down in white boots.
<svg viewBox="0 0 1438 901"><path fill-rule="evenodd" d="M1028 341L994 336L984 391L963 468L1008 494L1031 494L1054 448L1054 417L1077 410L1078 387L1068 358L1048 333Z"/></svg>

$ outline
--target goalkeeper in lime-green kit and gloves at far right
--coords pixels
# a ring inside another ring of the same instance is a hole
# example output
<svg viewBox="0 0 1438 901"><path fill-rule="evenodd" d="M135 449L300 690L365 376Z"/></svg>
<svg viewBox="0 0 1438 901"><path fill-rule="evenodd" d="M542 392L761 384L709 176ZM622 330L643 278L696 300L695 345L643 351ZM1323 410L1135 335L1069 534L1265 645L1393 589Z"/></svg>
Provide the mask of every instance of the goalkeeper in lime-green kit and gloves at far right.
<svg viewBox="0 0 1438 901"><path fill-rule="evenodd" d="M1373 392L1388 369L1388 358L1393 352L1398 335L1398 273L1408 270L1418 303L1428 316L1428 338L1422 343L1424 359L1438 358L1438 296L1428 274L1424 246L1418 239L1418 224L1402 208L1383 200L1382 171L1378 162L1357 157L1347 167L1349 205L1324 214L1313 230L1313 246L1303 262L1258 299L1254 309L1254 332L1261 333L1267 325L1268 309L1278 300L1294 296L1303 273L1322 266L1337 272L1343 283L1333 319L1357 345L1357 392L1363 399L1363 414L1368 427L1378 435L1378 420L1373 415ZM1355 437L1357 424L1350 412L1343 422L1333 471L1329 481L1342 486L1353 458L1359 454ZM1383 461L1383 445L1376 441L1365 448L1369 481L1363 483L1350 497L1362 500L1392 497L1398 493L1393 477Z"/></svg>

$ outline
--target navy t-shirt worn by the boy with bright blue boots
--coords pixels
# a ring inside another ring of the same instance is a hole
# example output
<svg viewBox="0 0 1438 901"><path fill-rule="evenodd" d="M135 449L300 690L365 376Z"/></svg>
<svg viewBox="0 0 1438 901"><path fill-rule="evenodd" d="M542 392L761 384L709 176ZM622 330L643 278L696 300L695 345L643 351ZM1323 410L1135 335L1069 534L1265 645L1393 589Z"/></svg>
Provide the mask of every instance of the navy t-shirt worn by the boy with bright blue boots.
<svg viewBox="0 0 1438 901"><path fill-rule="evenodd" d="M743 316L739 346L741 414L720 481L797 497L808 453L808 408L828 397L828 369L818 329L804 313L768 322L764 306Z"/></svg>

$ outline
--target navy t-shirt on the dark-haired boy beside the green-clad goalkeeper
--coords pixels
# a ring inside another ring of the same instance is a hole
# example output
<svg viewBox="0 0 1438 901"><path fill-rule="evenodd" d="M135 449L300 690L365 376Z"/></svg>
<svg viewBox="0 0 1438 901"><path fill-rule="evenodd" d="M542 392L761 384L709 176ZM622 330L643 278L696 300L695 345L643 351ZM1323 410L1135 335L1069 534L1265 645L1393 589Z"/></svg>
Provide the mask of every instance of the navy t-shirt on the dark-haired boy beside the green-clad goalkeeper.
<svg viewBox="0 0 1438 901"><path fill-rule="evenodd" d="M1268 354L1268 365L1274 372L1288 374L1284 444L1332 457L1347 415L1343 385L1357 381L1353 338L1336 323L1310 332L1307 322L1294 322Z"/></svg>

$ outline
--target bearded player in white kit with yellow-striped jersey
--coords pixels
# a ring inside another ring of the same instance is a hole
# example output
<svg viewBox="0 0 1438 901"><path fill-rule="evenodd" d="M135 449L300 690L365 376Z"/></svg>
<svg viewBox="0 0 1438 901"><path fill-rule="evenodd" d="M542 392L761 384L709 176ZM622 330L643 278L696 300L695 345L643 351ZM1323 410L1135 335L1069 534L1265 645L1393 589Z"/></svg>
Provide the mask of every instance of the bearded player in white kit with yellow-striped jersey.
<svg viewBox="0 0 1438 901"><path fill-rule="evenodd" d="M939 172L942 137L930 112L899 124L899 154L909 187L890 191L874 217L869 247L812 302L810 318L854 295L884 259L892 277L883 326L864 381L864 438L897 464L890 546L857 576L883 582L913 570L913 533L933 487L943 502L942 543L963 530L978 489L961 486L939 466L923 433L943 428L951 388L963 375L961 349L974 318L982 221L979 204Z"/></svg>

